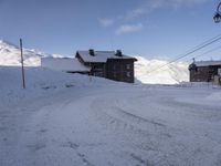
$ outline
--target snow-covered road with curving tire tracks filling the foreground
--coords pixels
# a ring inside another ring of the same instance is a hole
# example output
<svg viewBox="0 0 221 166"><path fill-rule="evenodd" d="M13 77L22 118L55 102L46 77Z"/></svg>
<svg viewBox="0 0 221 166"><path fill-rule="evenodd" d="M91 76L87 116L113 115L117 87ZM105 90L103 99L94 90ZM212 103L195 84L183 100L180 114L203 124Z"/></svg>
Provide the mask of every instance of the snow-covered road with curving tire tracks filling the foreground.
<svg viewBox="0 0 221 166"><path fill-rule="evenodd" d="M73 86L1 110L0 165L220 166L217 91Z"/></svg>

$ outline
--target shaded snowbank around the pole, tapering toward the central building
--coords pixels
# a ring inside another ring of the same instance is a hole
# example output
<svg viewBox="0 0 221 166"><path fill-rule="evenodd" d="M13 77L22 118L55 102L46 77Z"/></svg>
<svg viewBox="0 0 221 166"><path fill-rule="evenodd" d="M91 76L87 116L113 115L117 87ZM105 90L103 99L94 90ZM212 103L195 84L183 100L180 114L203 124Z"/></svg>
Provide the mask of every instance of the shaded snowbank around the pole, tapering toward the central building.
<svg viewBox="0 0 221 166"><path fill-rule="evenodd" d="M0 66L0 110L19 101L39 97L70 87L125 85L102 77L70 74L40 66L25 66L25 91L22 89L21 68Z"/></svg>

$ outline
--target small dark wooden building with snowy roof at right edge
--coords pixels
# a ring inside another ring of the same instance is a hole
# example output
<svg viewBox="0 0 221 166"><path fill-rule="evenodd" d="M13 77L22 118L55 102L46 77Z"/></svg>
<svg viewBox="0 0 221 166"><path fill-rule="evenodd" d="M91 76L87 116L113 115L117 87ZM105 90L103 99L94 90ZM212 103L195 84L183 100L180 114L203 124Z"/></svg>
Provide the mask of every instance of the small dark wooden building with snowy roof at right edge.
<svg viewBox="0 0 221 166"><path fill-rule="evenodd" d="M190 82L213 82L215 75L221 76L221 61L200 61L189 65Z"/></svg>

